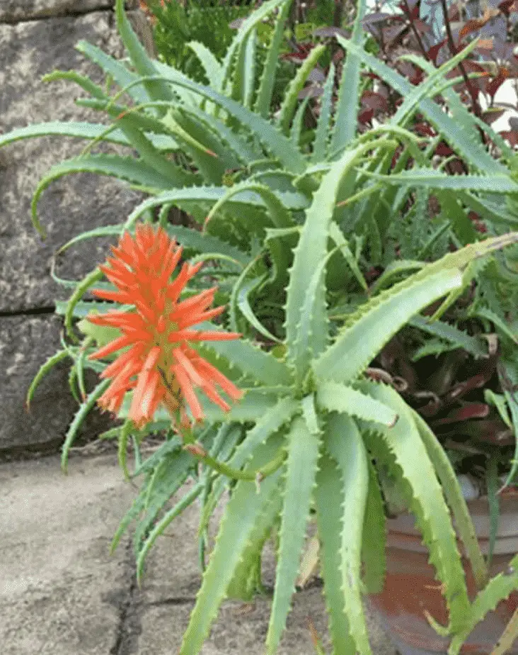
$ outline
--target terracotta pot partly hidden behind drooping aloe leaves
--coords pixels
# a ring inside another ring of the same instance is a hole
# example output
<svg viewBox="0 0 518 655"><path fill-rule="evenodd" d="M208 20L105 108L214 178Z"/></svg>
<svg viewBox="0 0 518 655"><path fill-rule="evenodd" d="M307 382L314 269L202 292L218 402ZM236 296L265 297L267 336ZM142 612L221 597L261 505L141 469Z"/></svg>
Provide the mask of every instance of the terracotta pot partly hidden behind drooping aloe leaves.
<svg viewBox="0 0 518 655"><path fill-rule="evenodd" d="M485 498L473 500L468 507L476 527L480 548L484 554L489 546L489 510ZM518 496L500 501L500 522L495 554L490 574L506 569L512 556L518 552ZM461 545L459 544L459 549ZM449 639L439 637L427 622L425 610L442 625L447 625L447 612L434 569L428 564L427 550L421 544L420 533L415 530L413 517L401 515L388 520L387 576L383 593L371 595L369 602L381 616L394 644L401 655L427 655L446 653ZM471 569L465 562L466 580L470 595L476 594ZM464 644L462 652L490 653L501 636L512 612L518 607L518 593L500 603ZM510 654L518 655L518 643Z"/></svg>

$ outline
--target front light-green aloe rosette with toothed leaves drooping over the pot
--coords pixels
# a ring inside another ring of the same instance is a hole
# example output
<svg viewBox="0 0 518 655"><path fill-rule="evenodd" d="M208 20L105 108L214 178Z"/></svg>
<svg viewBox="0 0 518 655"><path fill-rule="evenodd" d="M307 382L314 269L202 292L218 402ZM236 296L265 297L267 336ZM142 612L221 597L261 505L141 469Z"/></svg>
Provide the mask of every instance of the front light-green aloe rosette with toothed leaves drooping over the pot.
<svg viewBox="0 0 518 655"><path fill-rule="evenodd" d="M347 152L323 177L306 211L287 290L286 357L276 359L246 340L207 346L231 369L240 371L248 384L255 384L248 388L243 403L228 414L204 406L210 423L236 429L238 442L234 441L226 460L214 457L202 440L186 447L205 465L206 474L212 475L200 532L226 486L233 486L182 654L200 651L224 598L229 594L250 598L259 590L265 535L279 525L277 576L266 639L267 652L277 651L313 504L334 651L370 653L361 570L363 559L369 584L382 586L382 579L372 581L372 571L383 576L383 569L379 565L371 568L369 561L369 557L379 556L379 550L363 547L374 537L364 532L365 508L371 495L379 497L379 466L393 474L430 549L430 561L449 608L449 625L437 629L459 641L471 631L473 617L480 611L480 602L472 608L468 599L450 510L480 586L487 582L487 571L451 464L433 433L401 396L389 386L364 379L363 374L376 352L413 315L465 284L473 260L517 242L518 234L470 245L428 264L361 306L331 339L324 266L315 266L315 262L326 262L334 198L350 165ZM310 284L303 284L308 279ZM265 366L270 367L267 375ZM275 377L270 377L272 374ZM275 382L277 386L272 388ZM245 430L243 422L255 425ZM177 448L177 457L185 457L185 449ZM188 492L188 500L198 496L202 487L200 481ZM330 493L335 513L330 513ZM176 515L177 506L171 511ZM369 513L365 525L383 525L382 503L371 500ZM164 520L168 521L168 515ZM157 531L159 527L144 542L143 556ZM384 530L376 530L377 539L383 534ZM514 578L506 580L510 590L515 583ZM494 581L490 584L495 586ZM493 598L495 593L485 595Z"/></svg>

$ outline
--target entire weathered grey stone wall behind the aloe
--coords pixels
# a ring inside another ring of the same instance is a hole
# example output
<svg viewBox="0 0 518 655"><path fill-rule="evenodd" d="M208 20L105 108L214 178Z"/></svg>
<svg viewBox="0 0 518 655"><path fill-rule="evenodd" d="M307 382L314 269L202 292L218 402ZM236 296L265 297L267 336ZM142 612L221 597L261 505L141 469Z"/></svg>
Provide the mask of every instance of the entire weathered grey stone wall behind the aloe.
<svg viewBox="0 0 518 655"><path fill-rule="evenodd" d="M138 0L128 1L127 9L143 42L152 47ZM0 0L0 133L42 121L105 122L74 105L74 98L84 95L79 87L40 81L53 69L74 69L100 81L97 67L74 49L81 39L115 57L123 55L113 0ZM59 347L62 323L53 303L66 295L50 277L53 253L83 230L122 222L139 200L111 178L62 178L39 203L47 233L42 240L30 220L35 186L53 164L79 155L83 147L79 140L54 137L0 150L0 455L57 449L78 407L69 393L67 364L42 381L30 415L24 406L30 381ZM77 279L105 254L106 242L92 240L64 254L57 274ZM96 435L106 425L94 411L81 435Z"/></svg>

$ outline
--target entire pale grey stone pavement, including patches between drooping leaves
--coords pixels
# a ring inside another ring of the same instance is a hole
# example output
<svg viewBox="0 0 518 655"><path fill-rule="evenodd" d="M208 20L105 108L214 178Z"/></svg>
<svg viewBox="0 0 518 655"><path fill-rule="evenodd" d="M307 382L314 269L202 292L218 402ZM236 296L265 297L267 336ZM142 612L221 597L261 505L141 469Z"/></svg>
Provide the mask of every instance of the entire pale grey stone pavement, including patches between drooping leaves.
<svg viewBox="0 0 518 655"><path fill-rule="evenodd" d="M115 454L0 464L0 647L2 655L173 655L195 593L195 508L149 556L142 589L129 537L109 545L134 489ZM266 558L272 576L272 558ZM262 655L269 603L226 603L202 655ZM325 632L321 589L299 593L280 655L313 655L307 617ZM394 655L372 625L374 655Z"/></svg>

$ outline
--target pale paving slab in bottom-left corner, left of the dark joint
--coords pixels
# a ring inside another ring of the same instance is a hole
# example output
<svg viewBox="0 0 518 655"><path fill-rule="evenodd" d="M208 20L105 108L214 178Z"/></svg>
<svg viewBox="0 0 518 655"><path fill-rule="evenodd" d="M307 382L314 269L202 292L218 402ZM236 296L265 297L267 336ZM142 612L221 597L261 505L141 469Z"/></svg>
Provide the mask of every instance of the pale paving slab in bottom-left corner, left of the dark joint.
<svg viewBox="0 0 518 655"><path fill-rule="evenodd" d="M3 655L108 655L119 640L132 569L110 538L132 500L115 457L2 464Z"/></svg>

